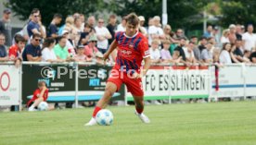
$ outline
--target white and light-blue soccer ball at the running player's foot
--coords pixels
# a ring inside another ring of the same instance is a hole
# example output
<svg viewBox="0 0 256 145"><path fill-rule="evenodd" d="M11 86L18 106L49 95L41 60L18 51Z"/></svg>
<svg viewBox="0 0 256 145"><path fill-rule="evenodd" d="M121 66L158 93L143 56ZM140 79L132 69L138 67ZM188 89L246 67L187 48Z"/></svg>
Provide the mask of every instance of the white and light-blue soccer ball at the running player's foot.
<svg viewBox="0 0 256 145"><path fill-rule="evenodd" d="M96 123L100 126L110 126L113 118L113 114L108 109L102 109L96 114Z"/></svg>

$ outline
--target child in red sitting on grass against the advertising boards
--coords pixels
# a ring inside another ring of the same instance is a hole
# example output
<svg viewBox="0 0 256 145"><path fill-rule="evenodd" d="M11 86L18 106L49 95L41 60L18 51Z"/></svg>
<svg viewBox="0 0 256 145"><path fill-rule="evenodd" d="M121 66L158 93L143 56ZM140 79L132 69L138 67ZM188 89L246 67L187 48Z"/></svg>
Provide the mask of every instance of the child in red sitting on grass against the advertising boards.
<svg viewBox="0 0 256 145"><path fill-rule="evenodd" d="M37 111L35 108L39 103L46 102L48 98L48 89L46 87L45 81L38 82L38 89L33 91L32 99L27 103L29 111ZM31 105L32 104L32 105ZM53 110L53 105L48 105L48 110Z"/></svg>

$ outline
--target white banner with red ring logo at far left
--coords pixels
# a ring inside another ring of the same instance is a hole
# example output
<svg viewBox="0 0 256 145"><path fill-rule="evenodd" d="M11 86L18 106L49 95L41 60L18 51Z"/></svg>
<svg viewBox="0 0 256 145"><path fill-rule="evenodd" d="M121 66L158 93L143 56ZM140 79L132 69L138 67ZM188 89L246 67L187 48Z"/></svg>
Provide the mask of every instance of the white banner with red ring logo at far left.
<svg viewBox="0 0 256 145"><path fill-rule="evenodd" d="M19 68L1 65L0 105L19 105Z"/></svg>

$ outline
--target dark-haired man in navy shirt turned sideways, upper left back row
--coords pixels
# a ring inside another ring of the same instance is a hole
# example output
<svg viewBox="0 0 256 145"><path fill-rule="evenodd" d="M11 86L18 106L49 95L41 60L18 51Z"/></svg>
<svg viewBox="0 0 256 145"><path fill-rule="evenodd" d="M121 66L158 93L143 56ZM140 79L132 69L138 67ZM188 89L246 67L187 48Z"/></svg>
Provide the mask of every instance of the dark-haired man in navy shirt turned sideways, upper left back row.
<svg viewBox="0 0 256 145"><path fill-rule="evenodd" d="M61 14L55 14L54 18L51 22L51 24L48 27L48 37L52 38L58 38L58 24L60 24L62 20L62 15Z"/></svg>

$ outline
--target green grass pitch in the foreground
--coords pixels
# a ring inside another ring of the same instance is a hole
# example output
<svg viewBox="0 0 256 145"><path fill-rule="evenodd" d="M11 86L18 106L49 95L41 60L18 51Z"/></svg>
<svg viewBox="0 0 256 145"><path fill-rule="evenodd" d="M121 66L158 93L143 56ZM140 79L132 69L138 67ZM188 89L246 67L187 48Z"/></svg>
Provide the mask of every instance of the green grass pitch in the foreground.
<svg viewBox="0 0 256 145"><path fill-rule="evenodd" d="M109 107L114 124L83 127L93 108L0 113L0 145L255 145L256 102Z"/></svg>

